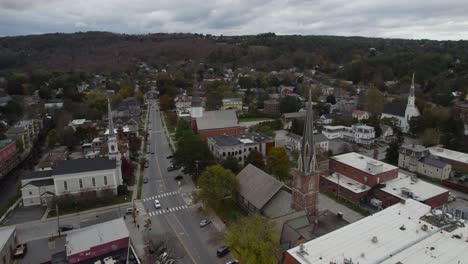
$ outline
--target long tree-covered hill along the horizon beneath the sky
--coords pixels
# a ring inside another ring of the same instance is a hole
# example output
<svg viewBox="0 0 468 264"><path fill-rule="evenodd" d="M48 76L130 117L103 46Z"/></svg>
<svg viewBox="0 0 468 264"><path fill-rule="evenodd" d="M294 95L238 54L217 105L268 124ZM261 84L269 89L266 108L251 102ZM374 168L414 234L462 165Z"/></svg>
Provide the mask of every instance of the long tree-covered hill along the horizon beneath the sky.
<svg viewBox="0 0 468 264"><path fill-rule="evenodd" d="M0 38L0 71L119 72L136 61L165 65L186 60L260 71L319 66L354 83L409 82L423 92L468 90L468 42L336 36L124 35L108 32ZM436 96L437 97L437 96Z"/></svg>

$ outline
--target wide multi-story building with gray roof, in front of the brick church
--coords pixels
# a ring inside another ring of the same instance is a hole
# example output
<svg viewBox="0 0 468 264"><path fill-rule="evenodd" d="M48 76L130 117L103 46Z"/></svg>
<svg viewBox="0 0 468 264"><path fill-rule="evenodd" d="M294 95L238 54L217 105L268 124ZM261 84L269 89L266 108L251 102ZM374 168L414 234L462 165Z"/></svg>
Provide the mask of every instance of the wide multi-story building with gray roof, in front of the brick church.
<svg viewBox="0 0 468 264"><path fill-rule="evenodd" d="M263 157L275 147L275 141L258 133L243 133L239 135L220 135L208 137L208 148L218 160L227 157L236 158L244 164L251 151L258 151Z"/></svg>

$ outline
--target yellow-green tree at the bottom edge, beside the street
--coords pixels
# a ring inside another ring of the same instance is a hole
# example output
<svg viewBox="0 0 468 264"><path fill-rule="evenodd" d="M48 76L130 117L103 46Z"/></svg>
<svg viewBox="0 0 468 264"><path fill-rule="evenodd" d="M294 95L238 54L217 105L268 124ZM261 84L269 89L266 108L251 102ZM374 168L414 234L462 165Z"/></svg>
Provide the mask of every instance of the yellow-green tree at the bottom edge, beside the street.
<svg viewBox="0 0 468 264"><path fill-rule="evenodd" d="M245 264L277 263L279 241L275 223L258 214L241 218L224 237L233 257Z"/></svg>

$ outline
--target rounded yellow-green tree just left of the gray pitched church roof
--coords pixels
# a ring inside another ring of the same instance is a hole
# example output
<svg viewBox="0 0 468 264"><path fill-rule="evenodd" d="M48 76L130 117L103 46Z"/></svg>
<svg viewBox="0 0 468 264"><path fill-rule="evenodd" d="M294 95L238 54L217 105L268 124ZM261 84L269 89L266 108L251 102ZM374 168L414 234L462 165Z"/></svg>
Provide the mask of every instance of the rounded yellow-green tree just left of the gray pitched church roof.
<svg viewBox="0 0 468 264"><path fill-rule="evenodd" d="M198 186L197 198L215 210L220 209L226 199L232 199L240 188L236 175L220 165L207 167L198 180Z"/></svg>

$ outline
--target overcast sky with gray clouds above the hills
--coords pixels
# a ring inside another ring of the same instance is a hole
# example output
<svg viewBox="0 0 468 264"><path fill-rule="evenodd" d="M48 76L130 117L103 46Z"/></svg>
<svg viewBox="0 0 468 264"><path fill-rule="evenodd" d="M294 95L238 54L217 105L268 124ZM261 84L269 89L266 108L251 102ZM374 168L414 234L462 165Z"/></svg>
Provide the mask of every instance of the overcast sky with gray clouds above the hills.
<svg viewBox="0 0 468 264"><path fill-rule="evenodd" d="M111 31L468 39L468 0L0 0L0 36Z"/></svg>

